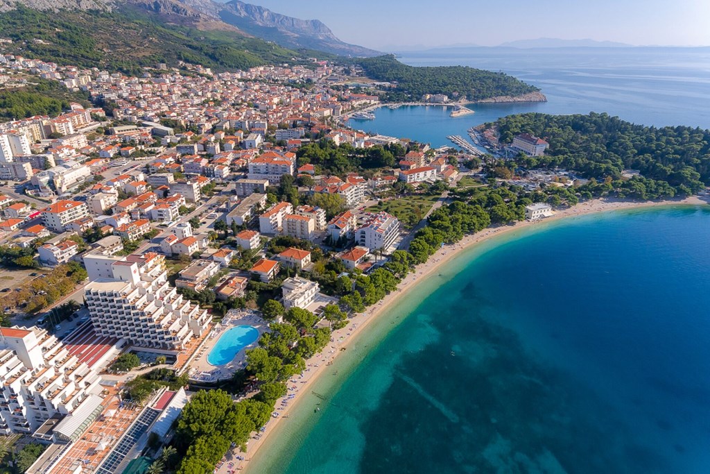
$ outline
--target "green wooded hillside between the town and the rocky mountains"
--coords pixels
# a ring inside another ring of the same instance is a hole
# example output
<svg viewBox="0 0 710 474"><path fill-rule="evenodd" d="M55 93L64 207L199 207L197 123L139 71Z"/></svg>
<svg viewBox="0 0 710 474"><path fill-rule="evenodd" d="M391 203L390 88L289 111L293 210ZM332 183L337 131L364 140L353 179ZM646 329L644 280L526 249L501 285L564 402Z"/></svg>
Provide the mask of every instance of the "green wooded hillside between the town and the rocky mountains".
<svg viewBox="0 0 710 474"><path fill-rule="evenodd" d="M144 66L179 61L216 70L291 63L298 54L259 38L227 31L165 25L142 11L37 11L19 6L0 14L7 48L60 65L141 75ZM38 43L33 40L40 40Z"/></svg>

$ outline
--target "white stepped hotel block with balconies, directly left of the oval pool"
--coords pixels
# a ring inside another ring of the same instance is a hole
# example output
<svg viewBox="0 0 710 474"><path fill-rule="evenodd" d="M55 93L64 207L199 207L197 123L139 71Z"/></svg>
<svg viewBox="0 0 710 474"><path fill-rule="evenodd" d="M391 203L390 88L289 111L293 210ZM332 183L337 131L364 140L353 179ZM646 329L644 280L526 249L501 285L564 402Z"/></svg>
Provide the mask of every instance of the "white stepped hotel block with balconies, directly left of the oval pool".
<svg viewBox="0 0 710 474"><path fill-rule="evenodd" d="M146 348L179 350L209 327L207 310L168 283L165 257L129 255L111 264L111 279L87 284L85 295L99 335Z"/></svg>

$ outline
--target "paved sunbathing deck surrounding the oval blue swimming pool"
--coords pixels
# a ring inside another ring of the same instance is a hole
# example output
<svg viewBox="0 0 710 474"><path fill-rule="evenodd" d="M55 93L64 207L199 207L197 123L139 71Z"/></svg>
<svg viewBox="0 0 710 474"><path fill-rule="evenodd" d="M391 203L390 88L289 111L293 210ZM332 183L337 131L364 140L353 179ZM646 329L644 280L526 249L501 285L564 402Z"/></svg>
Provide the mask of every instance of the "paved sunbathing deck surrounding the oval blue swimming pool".
<svg viewBox="0 0 710 474"><path fill-rule="evenodd" d="M258 311L253 311L249 309L239 309L230 310L224 316L222 323L214 325L214 328L207 336L207 341L202 345L200 353L195 357L195 360L190 364L190 371L187 372L190 375L190 380L195 380L199 382L217 382L222 379L229 379L234 372L240 370L246 364L245 356L246 350L256 348L258 345L258 338L250 345L246 346L239 352L237 352L234 359L225 365L212 365L207 362L207 355L209 351L214 348L217 344L219 337L231 328L236 326L248 325L256 328L259 332L259 338L261 335L268 330L268 323L261 319Z"/></svg>

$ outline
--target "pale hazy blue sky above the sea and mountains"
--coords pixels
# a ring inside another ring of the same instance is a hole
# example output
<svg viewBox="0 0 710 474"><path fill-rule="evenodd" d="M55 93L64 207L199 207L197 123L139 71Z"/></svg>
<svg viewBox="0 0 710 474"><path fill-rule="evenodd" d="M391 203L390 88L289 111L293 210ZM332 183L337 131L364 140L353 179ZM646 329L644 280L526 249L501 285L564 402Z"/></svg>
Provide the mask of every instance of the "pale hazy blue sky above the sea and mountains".
<svg viewBox="0 0 710 474"><path fill-rule="evenodd" d="M245 0L249 2L250 0ZM710 45L710 0L251 0L319 19L342 41L391 45L498 45L532 38L633 45Z"/></svg>

